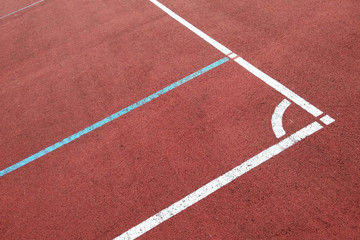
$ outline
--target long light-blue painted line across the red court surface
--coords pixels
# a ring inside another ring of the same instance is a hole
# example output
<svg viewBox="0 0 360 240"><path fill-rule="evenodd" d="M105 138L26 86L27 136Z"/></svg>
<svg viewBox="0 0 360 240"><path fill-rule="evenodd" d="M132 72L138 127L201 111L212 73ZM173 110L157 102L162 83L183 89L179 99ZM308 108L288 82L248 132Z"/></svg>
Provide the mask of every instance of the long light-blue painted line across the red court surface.
<svg viewBox="0 0 360 240"><path fill-rule="evenodd" d="M195 72L195 73L193 73L193 74L191 74L191 75L189 75L189 76L187 76L187 77L185 77L185 78L183 78L183 79L181 79L181 80L179 80L179 81L177 81L177 82L175 82L175 83L173 83L173 84L171 84L171 85L169 85L169 86L167 86L167 87L165 87L163 89L161 89L160 91L157 91L156 93L151 94L150 96L148 96L148 97L146 97L146 98L144 98L144 99L142 99L142 100L128 106L127 108L124 108L124 109L120 110L117 113L114 113L113 115L111 115L111 116L109 116L109 117L107 117L107 118L105 118L105 119L91 125L90 127L87 127L85 129L81 130L80 132L75 133L74 135L71 135L70 137L65 138L62 141L57 142L54 145L52 145L50 147L47 147L44 150L41 150L40 152L35 153L34 155L32 155L32 156L30 156L28 158L25 158L22 161L20 161L20 162L18 162L16 164L4 169L4 170L1 170L0 171L0 177L2 177L4 175L18 169L18 168L21 168L21 167L25 166L26 164L28 164L28 163L30 163L32 161L35 161L36 159L38 159L38 158L40 158L40 157L54 151L55 149L58 149L58 148L64 146L65 144L68 144L68 143L74 141L75 139L77 139L77 138L79 138L79 137L81 137L81 136L83 136L83 135L85 135L85 134L99 128L99 127L101 127L102 125L104 125L106 123L111 122L114 119L117 119L118 117L120 117L120 116L122 116L122 115L124 115L124 114L126 114L126 113L128 113L128 112L130 112L130 111L144 105L145 103L148 103L148 102L160 97L161 95L173 90L174 88L179 87L180 85L182 85L182 84L184 84L184 83L186 83L186 82L200 76L203 73L206 73L206 72L210 71L213 68L216 68L216 67L220 66L221 64L223 64L223 63L225 63L227 61L229 61L229 58L227 58L227 57L225 57L223 59L220 59L219 61L216 61L216 62L210 64L209 66L206 66L203 69L200 69L199 71L197 71L197 72Z"/></svg>

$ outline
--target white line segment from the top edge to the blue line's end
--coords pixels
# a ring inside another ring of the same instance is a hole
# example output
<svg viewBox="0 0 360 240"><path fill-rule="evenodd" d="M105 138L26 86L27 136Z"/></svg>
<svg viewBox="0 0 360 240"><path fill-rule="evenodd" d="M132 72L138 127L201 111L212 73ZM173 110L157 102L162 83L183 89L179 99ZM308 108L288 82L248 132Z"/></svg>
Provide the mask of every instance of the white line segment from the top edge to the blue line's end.
<svg viewBox="0 0 360 240"><path fill-rule="evenodd" d="M228 55L231 53L231 51L227 47L225 47L221 43L215 41L214 39L209 37L207 34L200 31L198 28L194 27L191 23L189 23L188 21L186 21L185 19L183 19L182 17L180 17L179 15L177 15L176 13L171 11L169 8L165 7L163 4L159 3L156 0L150 0L150 2L152 2L157 7L159 7L161 10L163 10L164 12L169 14L172 18L174 18L176 21L178 21L179 23L181 23L182 25L187 27L189 30L194 32L196 35L198 35L199 37L201 37L202 39L204 39L205 41L207 41L208 43L213 45L220 52L224 53L225 55Z"/></svg>

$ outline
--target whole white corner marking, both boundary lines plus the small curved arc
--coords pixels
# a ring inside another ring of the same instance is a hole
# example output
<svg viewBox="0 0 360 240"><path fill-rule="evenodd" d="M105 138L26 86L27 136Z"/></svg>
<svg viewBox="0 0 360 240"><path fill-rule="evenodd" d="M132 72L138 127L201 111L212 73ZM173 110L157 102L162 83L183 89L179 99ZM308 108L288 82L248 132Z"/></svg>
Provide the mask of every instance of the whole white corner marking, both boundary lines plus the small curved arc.
<svg viewBox="0 0 360 240"><path fill-rule="evenodd" d="M260 78L262 81L267 83L269 86L283 94L285 97L302 107L304 110L309 112L315 117L318 117L322 114L322 111L320 111L318 108L298 96L296 93L291 91L290 89L286 88L284 85L276 81L275 79L271 78L267 74L263 73L247 61L245 61L243 58L238 57L235 53L230 51L228 48L220 44L219 42L215 41L213 38L205 34L204 32L200 31L198 28L190 24L188 21L174 13L169 8L165 7L163 4L158 2L157 0L149 0L152 3L154 3L157 7L162 9L164 12L166 12L168 15L170 15L172 18L174 18L176 21L183 24L185 27L187 27L189 30L197 34L199 37L210 43L212 46L214 46L216 49L230 57L231 59L235 59L234 61L237 62L240 66L244 67L246 70ZM277 131L275 134L276 136L280 136L285 134L284 129L282 128L282 116L286 110L287 107L289 107L291 103L284 99L279 106L275 109L275 117L273 115L272 122L275 122L275 129L278 128L278 126L281 126L281 129L274 130ZM322 117L320 119L325 124L330 124L334 119L332 119L330 116L326 115L325 117ZM205 197L209 196L216 190L222 188L223 186L227 185L228 183L234 181L244 173L250 171L251 169L259 166L260 164L266 162L273 156L281 153L282 151L288 149L289 147L293 146L295 143L301 141L302 139L310 136L311 134L319 131L322 129L322 125L318 122L314 122L307 127L299 130L298 132L292 134L291 136L283 139L279 143L267 148L266 150L262 151L261 153L257 154L256 156L250 158L249 160L245 161L244 163L240 164L239 166L233 168L232 170L228 171L227 173L221 175L220 177L214 179L213 181L209 182L208 184L202 186L201 188L197 189L196 191L190 193L183 199L175 202L168 208L163 209L162 211L158 212L157 214L153 215L152 217L146 219L145 221L141 222L140 224L134 226L133 228L129 229L128 231L124 232L120 236L116 237L115 240L121 240L121 239L135 239L144 233L150 231L154 227L158 226L162 222L170 219L171 217L175 216L176 214L180 213L181 211L185 210L186 208L192 206L193 204L197 203L198 201L204 199Z"/></svg>

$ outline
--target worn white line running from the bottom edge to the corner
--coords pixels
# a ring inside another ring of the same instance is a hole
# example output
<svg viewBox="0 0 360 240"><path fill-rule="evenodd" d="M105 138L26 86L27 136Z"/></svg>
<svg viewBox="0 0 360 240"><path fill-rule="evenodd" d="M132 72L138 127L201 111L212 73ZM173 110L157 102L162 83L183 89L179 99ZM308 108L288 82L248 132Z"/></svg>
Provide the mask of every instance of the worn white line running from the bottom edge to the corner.
<svg viewBox="0 0 360 240"><path fill-rule="evenodd" d="M205 197L209 196L216 190L218 190L218 189L224 187L225 185L227 185L228 183L234 181L236 178L240 177L244 173L246 173L246 172L250 171L251 169L259 166L260 164L266 162L273 156L281 153L285 149L291 147L292 145L299 142L300 140L317 132L321 128L323 128L323 127L318 122L314 122L314 123L310 124L309 126L299 130L298 132L285 138L284 140L280 141L279 143L269 147L268 149L262 151L258 155L250 158L249 160L245 161L244 163L240 164L239 166L233 168L229 172L212 180L211 182L202 186L201 188L197 189L196 191L190 193L183 199L172 204L170 207L165 208L164 210L153 215L152 217L146 219L142 223L129 229L128 231L124 232L120 236L116 237L115 240L135 239L137 237L140 237L141 235L143 235L144 233L155 228L162 222L175 216L176 214L180 213L181 211L184 211L186 208L188 208L191 205L197 203L198 201L204 199Z"/></svg>

